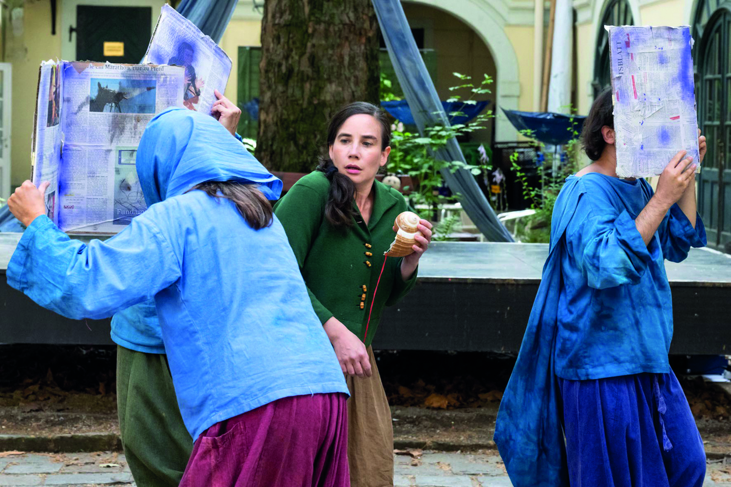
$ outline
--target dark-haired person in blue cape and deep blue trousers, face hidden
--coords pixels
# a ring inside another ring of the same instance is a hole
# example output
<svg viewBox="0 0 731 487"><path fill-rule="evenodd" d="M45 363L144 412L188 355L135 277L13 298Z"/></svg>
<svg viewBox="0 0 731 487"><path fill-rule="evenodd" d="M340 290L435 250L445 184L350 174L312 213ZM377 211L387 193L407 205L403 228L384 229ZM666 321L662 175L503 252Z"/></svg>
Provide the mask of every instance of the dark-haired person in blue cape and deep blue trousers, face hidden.
<svg viewBox="0 0 731 487"><path fill-rule="evenodd" d="M612 93L584 122L594 162L569 176L501 400L495 442L515 487L700 487L705 453L668 364L664 259L705 245L695 169L681 151L657 189L616 175ZM699 137L700 158L705 137ZM565 437L565 446L564 446Z"/></svg>

